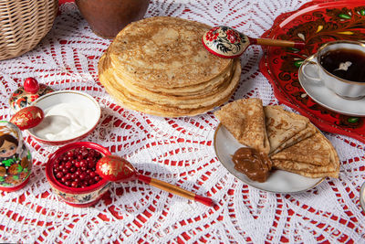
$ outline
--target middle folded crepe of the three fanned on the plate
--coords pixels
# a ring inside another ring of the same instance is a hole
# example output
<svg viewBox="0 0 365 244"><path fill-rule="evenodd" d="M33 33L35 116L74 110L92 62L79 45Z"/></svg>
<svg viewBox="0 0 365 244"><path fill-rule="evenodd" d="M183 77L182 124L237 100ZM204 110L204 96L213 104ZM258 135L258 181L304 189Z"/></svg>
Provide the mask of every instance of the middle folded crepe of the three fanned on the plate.
<svg viewBox="0 0 365 244"><path fill-rule="evenodd" d="M277 105L266 106L264 111L270 154L276 154L316 133L316 127L309 122L307 117L285 111Z"/></svg>

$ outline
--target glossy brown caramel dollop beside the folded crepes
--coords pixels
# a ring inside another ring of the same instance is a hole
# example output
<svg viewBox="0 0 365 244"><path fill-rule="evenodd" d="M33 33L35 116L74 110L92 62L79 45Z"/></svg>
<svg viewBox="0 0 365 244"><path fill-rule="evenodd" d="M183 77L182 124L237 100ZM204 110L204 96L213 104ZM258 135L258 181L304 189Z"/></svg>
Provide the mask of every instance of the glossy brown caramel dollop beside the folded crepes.
<svg viewBox="0 0 365 244"><path fill-rule="evenodd" d="M235 151L232 160L237 171L257 182L265 182L272 167L267 154L249 147L241 147Z"/></svg>

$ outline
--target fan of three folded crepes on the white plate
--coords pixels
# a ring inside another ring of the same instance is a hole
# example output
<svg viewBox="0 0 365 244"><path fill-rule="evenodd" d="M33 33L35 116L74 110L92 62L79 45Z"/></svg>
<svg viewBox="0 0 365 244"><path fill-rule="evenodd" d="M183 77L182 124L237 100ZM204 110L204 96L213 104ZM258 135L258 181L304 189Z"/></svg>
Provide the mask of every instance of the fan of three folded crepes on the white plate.
<svg viewBox="0 0 365 244"><path fill-rule="evenodd" d="M238 100L214 115L235 139L268 154L272 165L307 177L339 177L339 156L307 117L266 106L259 99Z"/></svg>

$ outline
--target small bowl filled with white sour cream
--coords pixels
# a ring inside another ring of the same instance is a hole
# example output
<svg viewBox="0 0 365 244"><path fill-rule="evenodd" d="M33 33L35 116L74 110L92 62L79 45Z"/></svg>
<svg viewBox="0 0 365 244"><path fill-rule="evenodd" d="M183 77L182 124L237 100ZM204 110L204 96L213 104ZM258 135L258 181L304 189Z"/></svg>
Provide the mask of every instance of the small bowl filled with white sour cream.
<svg viewBox="0 0 365 244"><path fill-rule="evenodd" d="M36 141L51 145L81 140L95 129L101 115L98 101L78 90L53 91L31 105L39 107L45 117L27 132Z"/></svg>

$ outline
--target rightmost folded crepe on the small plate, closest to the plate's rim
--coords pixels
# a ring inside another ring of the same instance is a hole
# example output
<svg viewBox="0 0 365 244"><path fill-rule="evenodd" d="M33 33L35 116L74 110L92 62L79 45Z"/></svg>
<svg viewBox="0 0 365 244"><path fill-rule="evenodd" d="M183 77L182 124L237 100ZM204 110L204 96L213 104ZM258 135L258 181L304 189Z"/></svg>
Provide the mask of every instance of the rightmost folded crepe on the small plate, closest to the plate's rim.
<svg viewBox="0 0 365 244"><path fill-rule="evenodd" d="M339 156L322 133L315 133L271 155L277 169L307 177L339 177Z"/></svg>

